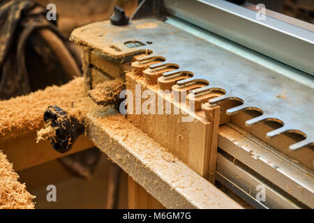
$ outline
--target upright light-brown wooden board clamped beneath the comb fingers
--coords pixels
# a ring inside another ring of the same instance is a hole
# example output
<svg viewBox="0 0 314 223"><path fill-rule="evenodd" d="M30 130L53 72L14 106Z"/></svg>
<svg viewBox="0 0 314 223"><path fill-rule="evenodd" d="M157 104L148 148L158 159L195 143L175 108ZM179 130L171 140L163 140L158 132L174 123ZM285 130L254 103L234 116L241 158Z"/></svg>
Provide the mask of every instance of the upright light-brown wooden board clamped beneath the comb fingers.
<svg viewBox="0 0 314 223"><path fill-rule="evenodd" d="M140 84L140 94L137 93L135 95L135 84ZM190 168L197 171L198 174L214 183L215 175L213 173L216 171L217 148L212 146L213 123L207 121L202 116L192 113L190 114L194 117L193 121L182 122L181 118L187 115L181 112L180 114L173 114L173 111L174 108L177 108L179 111L182 109L188 111L186 105L174 102L170 95L165 96L158 93L158 86L147 85L144 77L135 75L132 72L126 74L126 88L133 92L133 114L128 114L130 121L149 134L149 137L168 148L170 152L179 157ZM165 114L165 102L163 114L135 114L136 100L140 100L140 105L142 105L147 99L141 100L140 97L142 91L147 89L156 95L156 104L158 96L169 102L172 114ZM136 97L139 98L136 99ZM218 131L216 131L216 137L218 136L217 134ZM212 174L209 174L209 172Z"/></svg>

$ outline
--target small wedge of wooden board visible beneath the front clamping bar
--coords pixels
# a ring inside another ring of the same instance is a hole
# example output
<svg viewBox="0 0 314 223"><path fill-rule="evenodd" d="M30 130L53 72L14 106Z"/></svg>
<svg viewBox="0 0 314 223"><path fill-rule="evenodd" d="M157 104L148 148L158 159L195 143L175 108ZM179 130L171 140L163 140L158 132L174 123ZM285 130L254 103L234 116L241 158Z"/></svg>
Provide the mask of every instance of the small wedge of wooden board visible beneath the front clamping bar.
<svg viewBox="0 0 314 223"><path fill-rule="evenodd" d="M133 178L128 176L128 208L129 209L165 209L165 207L149 194Z"/></svg>

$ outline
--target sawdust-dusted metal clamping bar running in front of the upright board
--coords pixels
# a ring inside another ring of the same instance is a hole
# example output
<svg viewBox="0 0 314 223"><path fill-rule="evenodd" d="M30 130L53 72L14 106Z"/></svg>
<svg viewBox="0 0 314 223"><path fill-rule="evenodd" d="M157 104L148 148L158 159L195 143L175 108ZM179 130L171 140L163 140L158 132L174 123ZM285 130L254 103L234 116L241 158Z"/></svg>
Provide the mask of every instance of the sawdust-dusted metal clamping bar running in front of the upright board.
<svg viewBox="0 0 314 223"><path fill-rule="evenodd" d="M89 139L165 208L241 208L114 109L86 118Z"/></svg>

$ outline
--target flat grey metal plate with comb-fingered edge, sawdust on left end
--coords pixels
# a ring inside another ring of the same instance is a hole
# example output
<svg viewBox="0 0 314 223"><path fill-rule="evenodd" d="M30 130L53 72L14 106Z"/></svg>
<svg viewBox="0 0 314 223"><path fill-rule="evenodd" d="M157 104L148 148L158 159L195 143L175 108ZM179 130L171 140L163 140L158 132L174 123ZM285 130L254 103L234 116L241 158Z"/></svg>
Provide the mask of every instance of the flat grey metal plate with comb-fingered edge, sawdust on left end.
<svg viewBox="0 0 314 223"><path fill-rule="evenodd" d="M84 40L86 45L114 59L123 60L125 56L151 52L146 59L154 56L165 59L162 63L149 66L153 72L154 69L158 70L156 68L172 66L178 69L165 72L164 77L171 77L171 74L179 71L193 73L194 77L177 82L179 86L192 82L209 83L208 86L193 91L195 95L213 89L225 91L225 95L211 99L209 103L214 104L228 99L244 103L227 110L227 114L235 114L246 109L262 112L261 116L248 120L247 125L264 120L283 124L282 128L268 132L267 137L275 137L286 131L296 132L306 139L290 145L290 149L296 150L313 144L314 90L311 87L294 82L205 40L195 38L190 33L165 22L147 19L134 21L122 27L112 26L108 22L88 25L89 28L91 26L97 29L91 31L86 28L87 26L83 26L73 31L71 38ZM124 45L135 40L144 45L135 48Z"/></svg>

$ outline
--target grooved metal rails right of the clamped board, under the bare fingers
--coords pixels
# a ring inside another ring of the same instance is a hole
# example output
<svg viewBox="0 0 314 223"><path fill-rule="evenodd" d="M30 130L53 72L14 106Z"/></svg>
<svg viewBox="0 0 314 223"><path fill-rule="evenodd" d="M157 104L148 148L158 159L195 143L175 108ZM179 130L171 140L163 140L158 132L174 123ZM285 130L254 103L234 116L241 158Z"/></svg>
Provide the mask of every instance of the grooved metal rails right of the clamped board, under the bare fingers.
<svg viewBox="0 0 314 223"><path fill-rule="evenodd" d="M278 156L274 153L274 148L232 123L220 126L218 147L232 156L231 164L226 162L221 155L218 157L218 180L222 175L229 179L234 186L240 187L246 194L250 194L249 197L256 193L255 185L265 185L269 190L266 193L267 203L260 203L260 206L267 208L298 208L299 201L308 207L314 207L312 171L300 169L286 159L285 155ZM251 174L250 171L246 172L243 167L237 167L235 160L239 160L256 174ZM258 179L258 176L262 176L262 179ZM258 183L259 181L261 183ZM269 182L271 182L270 185ZM276 186L274 187L274 185ZM278 190L277 187L281 189ZM250 190L251 193L249 193ZM278 192L276 192L277 190ZM294 197L297 200L290 200L287 197Z"/></svg>

